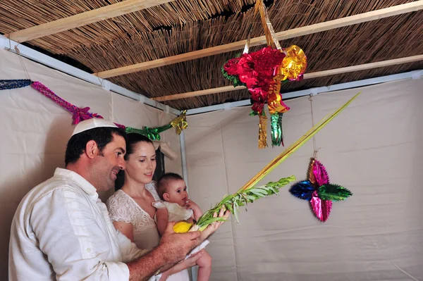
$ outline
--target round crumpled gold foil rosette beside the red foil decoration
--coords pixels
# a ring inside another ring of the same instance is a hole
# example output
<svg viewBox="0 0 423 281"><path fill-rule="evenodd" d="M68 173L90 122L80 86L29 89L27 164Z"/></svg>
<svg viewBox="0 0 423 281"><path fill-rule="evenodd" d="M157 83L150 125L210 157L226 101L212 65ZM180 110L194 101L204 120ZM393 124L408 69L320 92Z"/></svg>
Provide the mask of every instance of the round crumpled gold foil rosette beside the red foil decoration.
<svg viewBox="0 0 423 281"><path fill-rule="evenodd" d="M281 73L283 74L282 80L298 80L300 75L305 73L307 68L307 56L299 46L289 46L284 49L286 57L283 58L281 64Z"/></svg>

